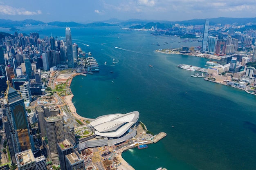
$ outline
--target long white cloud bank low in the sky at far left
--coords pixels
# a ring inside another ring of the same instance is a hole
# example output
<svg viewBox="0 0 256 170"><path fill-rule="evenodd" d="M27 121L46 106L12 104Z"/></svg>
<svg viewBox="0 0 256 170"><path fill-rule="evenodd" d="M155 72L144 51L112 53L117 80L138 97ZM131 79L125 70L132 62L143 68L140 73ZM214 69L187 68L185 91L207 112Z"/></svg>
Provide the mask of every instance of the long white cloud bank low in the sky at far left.
<svg viewBox="0 0 256 170"><path fill-rule="evenodd" d="M25 9L18 9L8 5L0 5L0 13L4 15L40 15L42 11L27 11Z"/></svg>

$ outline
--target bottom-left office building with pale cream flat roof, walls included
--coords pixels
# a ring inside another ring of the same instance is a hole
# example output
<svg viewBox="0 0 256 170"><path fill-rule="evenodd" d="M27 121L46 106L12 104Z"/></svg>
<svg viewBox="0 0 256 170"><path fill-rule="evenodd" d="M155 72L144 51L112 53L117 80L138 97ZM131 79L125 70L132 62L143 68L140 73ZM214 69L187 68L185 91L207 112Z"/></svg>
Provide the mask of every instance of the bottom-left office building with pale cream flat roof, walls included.
<svg viewBox="0 0 256 170"><path fill-rule="evenodd" d="M37 170L36 159L31 149L15 154L18 170Z"/></svg>

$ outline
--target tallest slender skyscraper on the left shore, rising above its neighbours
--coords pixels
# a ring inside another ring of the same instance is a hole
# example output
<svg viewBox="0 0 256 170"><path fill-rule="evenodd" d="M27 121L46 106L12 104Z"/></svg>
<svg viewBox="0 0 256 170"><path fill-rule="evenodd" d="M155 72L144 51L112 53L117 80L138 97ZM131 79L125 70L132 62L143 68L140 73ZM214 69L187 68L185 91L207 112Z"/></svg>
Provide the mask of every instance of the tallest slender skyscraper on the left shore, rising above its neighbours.
<svg viewBox="0 0 256 170"><path fill-rule="evenodd" d="M74 67L74 58L72 50L72 37L69 27L66 28L66 46L67 46L67 65L68 67Z"/></svg>

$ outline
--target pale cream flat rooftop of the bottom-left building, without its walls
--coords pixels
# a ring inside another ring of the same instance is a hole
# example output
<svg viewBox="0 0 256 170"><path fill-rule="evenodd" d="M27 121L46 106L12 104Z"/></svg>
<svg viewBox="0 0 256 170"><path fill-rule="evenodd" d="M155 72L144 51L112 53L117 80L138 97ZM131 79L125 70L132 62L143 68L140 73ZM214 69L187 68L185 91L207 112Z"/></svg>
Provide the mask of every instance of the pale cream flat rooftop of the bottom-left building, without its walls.
<svg viewBox="0 0 256 170"><path fill-rule="evenodd" d="M19 153L15 154L15 157L16 157L16 161L18 163L18 166L22 166L22 165L25 165L27 163L31 163L33 161L36 161L31 149L19 152Z"/></svg>

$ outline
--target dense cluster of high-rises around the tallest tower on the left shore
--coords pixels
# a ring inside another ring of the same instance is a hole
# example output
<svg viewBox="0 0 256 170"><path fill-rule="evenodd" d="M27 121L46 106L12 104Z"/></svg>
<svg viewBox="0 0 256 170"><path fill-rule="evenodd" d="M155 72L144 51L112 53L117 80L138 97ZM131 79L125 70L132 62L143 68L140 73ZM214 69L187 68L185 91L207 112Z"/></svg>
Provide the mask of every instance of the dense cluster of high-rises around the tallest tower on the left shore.
<svg viewBox="0 0 256 170"><path fill-rule="evenodd" d="M65 30L66 40L55 40L53 36L39 38L37 32L13 36L0 40L0 93L10 86L22 93L25 101L31 95L43 95L44 84L40 72L52 67L74 68L78 58L78 46L72 43L70 28ZM57 38L57 37L56 37ZM46 77L47 78L47 77Z"/></svg>

